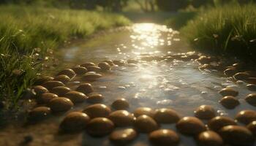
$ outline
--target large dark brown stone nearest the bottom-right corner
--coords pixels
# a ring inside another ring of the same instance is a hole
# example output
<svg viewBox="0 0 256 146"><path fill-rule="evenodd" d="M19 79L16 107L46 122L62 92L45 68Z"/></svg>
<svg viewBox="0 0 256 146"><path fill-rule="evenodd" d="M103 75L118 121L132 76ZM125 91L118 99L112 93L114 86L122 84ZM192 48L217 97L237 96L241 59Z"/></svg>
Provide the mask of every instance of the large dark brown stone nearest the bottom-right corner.
<svg viewBox="0 0 256 146"><path fill-rule="evenodd" d="M255 140L252 132L243 126L225 126L220 129L219 134L229 145L249 146L253 145Z"/></svg>

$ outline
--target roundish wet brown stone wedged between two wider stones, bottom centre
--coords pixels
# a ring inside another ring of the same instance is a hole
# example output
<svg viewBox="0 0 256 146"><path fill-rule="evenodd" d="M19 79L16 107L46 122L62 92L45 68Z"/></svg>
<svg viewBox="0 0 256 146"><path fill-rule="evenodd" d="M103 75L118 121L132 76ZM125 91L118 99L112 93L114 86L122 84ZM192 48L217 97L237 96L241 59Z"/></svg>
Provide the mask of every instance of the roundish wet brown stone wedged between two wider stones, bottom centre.
<svg viewBox="0 0 256 146"><path fill-rule="evenodd" d="M141 133L150 133L151 131L157 130L159 125L153 118L149 117L148 115L140 115L135 120L134 127Z"/></svg>

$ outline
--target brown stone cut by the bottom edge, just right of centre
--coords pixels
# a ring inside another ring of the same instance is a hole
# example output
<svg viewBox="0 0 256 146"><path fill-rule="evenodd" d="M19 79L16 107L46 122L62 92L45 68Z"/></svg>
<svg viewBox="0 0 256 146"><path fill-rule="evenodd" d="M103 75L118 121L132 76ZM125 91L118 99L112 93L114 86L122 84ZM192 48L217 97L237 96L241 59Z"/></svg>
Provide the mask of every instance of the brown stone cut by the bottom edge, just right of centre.
<svg viewBox="0 0 256 146"><path fill-rule="evenodd" d="M176 146L180 139L175 131L159 129L149 134L149 141L155 146Z"/></svg>

